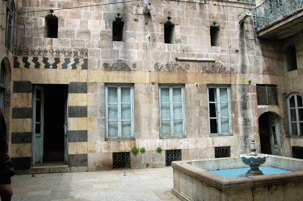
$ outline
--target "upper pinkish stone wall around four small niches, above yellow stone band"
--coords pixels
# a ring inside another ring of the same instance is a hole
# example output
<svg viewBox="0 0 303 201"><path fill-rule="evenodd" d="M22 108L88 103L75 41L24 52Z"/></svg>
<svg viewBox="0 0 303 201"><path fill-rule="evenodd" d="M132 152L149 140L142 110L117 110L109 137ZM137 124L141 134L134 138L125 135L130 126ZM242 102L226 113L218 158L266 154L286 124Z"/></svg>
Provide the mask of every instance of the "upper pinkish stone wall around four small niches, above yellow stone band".
<svg viewBox="0 0 303 201"><path fill-rule="evenodd" d="M180 64L187 72L204 72L221 66L221 72L231 70L233 73L262 74L267 59L274 60L273 63L278 66L274 46L269 45L271 48L261 50L260 45L255 44L251 18L247 18L244 24L238 22L239 14L250 11L254 4L231 1L151 2L153 10L149 15L143 15L147 1L102 6L93 6L102 3L99 1L22 1L19 12L92 7L55 10L53 14L58 17L58 38L45 37L45 16L50 14L49 11L19 14L15 33L16 50L20 46L21 51L26 50L25 46L29 48L27 55L24 53L20 56L37 56L38 49L45 50L49 56L52 55L50 51L57 50L61 55L58 58L66 58L68 54L62 51L84 49L87 50L89 70L104 70L107 64L112 66L119 59L136 71L157 71L157 66L167 64L170 60ZM124 21L122 42L112 41L112 23L117 14ZM164 43L164 24L168 20L174 24L174 44ZM219 28L217 46L211 46L212 26ZM31 48L34 48L33 55ZM261 59L262 51L267 52L269 57ZM213 65L213 62L176 61L176 57L215 59L219 65ZM135 69L132 68L133 63Z"/></svg>

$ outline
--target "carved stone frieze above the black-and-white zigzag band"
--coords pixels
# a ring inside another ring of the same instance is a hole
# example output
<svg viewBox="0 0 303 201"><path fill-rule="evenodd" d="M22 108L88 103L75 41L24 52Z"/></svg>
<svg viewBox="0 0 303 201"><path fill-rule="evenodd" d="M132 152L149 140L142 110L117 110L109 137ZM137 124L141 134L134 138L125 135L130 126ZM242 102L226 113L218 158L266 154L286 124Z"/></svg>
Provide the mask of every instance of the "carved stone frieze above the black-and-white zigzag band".
<svg viewBox="0 0 303 201"><path fill-rule="evenodd" d="M86 59L88 56L85 48L53 48L53 47L23 47L15 46L16 56L43 56L43 57L68 57Z"/></svg>

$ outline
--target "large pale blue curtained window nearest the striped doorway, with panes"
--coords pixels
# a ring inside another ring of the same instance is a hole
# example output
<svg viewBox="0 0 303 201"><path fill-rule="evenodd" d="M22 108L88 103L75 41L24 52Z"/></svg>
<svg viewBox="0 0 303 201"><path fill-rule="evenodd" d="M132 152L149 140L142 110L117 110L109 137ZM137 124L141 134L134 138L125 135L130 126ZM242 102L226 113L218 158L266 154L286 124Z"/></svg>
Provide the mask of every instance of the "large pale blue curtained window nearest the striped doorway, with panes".
<svg viewBox="0 0 303 201"><path fill-rule="evenodd" d="M133 139L133 86L106 85L106 138Z"/></svg>

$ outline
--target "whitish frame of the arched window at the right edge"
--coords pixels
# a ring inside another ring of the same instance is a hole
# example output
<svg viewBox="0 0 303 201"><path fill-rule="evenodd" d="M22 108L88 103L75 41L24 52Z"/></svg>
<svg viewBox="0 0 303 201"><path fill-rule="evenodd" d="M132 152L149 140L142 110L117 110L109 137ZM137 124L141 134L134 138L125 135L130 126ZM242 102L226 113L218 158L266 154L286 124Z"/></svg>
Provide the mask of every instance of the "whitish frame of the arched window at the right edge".
<svg viewBox="0 0 303 201"><path fill-rule="evenodd" d="M290 98L292 98L293 96L295 96L295 98L294 98L295 107L290 107ZM287 97L287 114L288 114L289 135L291 137L303 137L303 133L300 133L300 123L303 123L303 121L299 120L299 111L298 111L298 109L303 108L303 103L302 103L302 107L298 107L298 101L297 101L296 96L300 96L303 101L303 97L299 93L292 93ZM291 114L290 114L291 109L295 109L295 111L296 111L296 121L292 121L292 119L291 119ZM296 123L296 125L297 125L297 131L298 131L297 135L292 134L292 123Z"/></svg>

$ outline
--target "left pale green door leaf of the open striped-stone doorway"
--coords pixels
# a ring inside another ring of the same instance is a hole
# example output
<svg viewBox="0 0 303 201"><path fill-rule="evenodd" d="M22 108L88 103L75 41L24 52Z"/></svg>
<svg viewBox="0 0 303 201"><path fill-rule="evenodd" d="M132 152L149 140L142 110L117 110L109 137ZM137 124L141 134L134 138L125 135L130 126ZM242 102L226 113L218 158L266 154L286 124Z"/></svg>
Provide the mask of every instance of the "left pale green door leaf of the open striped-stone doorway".
<svg viewBox="0 0 303 201"><path fill-rule="evenodd" d="M43 165L43 113L44 90L34 86L33 97L33 166Z"/></svg>

